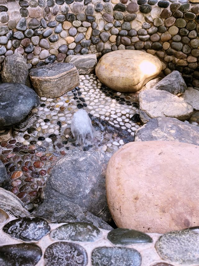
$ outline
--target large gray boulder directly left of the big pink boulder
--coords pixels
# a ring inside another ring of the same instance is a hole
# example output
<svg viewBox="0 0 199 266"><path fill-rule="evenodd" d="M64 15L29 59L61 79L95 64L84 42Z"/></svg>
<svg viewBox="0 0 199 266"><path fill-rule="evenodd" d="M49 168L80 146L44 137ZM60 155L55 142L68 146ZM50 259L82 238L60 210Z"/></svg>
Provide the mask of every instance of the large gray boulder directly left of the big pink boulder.
<svg viewBox="0 0 199 266"><path fill-rule="evenodd" d="M105 190L107 162L108 158L97 151L69 153L53 167L42 198L70 201L110 222Z"/></svg>

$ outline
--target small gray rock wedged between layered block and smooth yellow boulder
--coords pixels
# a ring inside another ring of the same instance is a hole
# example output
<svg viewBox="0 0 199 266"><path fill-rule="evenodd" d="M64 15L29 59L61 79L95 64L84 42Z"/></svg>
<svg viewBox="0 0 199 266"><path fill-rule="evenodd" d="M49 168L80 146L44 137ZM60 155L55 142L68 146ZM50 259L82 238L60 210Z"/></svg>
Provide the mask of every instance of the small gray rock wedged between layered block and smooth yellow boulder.
<svg viewBox="0 0 199 266"><path fill-rule="evenodd" d="M76 66L79 74L89 74L97 65L97 57L95 54L69 55L65 59L65 62L72 63Z"/></svg>

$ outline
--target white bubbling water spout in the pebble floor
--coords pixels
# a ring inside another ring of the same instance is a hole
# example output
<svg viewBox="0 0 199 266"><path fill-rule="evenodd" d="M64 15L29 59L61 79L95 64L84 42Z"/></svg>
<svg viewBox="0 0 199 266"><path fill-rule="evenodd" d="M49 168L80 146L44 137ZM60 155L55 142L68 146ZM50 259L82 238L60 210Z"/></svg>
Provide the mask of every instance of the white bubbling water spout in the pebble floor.
<svg viewBox="0 0 199 266"><path fill-rule="evenodd" d="M92 141L95 135L95 128L92 126L90 117L84 109L78 110L71 121L71 132L76 142L86 144Z"/></svg>

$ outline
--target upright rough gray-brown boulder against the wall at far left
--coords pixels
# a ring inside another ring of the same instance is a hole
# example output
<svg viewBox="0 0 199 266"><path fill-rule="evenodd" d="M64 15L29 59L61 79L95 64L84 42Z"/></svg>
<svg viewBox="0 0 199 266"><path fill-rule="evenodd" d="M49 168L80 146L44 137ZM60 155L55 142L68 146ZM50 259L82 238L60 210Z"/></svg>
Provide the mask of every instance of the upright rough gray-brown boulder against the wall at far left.
<svg viewBox="0 0 199 266"><path fill-rule="evenodd" d="M1 76L3 82L30 85L28 66L21 54L5 57Z"/></svg>

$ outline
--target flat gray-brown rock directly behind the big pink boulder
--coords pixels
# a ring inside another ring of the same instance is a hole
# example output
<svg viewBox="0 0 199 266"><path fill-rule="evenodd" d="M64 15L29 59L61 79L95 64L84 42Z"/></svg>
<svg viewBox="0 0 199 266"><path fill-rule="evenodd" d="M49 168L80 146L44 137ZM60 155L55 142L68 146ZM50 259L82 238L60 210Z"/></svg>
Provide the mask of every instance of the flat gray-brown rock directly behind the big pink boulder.
<svg viewBox="0 0 199 266"><path fill-rule="evenodd" d="M167 140L199 145L199 127L176 118L150 119L135 132L135 141Z"/></svg>

